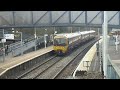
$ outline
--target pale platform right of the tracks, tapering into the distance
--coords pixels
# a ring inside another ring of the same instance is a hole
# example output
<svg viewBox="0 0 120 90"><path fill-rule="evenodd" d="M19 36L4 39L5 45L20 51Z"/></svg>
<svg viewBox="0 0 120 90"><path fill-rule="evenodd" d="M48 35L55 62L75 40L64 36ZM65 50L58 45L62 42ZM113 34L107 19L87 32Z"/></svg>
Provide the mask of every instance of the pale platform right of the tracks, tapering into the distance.
<svg viewBox="0 0 120 90"><path fill-rule="evenodd" d="M102 39L99 40L99 44L102 43ZM97 55L97 45L96 42L86 55L82 58L78 67L76 68L73 77L76 79L102 79L100 60ZM78 75L79 73L79 75ZM85 74L83 74L85 73ZM86 74L87 73L87 74ZM84 75L81 77L81 75ZM96 76L96 77L95 77Z"/></svg>

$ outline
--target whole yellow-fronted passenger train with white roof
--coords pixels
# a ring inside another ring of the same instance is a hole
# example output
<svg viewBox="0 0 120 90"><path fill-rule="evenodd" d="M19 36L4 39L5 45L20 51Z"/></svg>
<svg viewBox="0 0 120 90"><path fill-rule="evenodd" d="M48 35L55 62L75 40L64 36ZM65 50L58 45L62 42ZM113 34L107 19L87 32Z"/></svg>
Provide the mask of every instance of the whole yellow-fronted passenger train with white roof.
<svg viewBox="0 0 120 90"><path fill-rule="evenodd" d="M53 41L53 50L57 55L66 55L82 43L94 39L96 31L82 31L75 33L56 34Z"/></svg>

